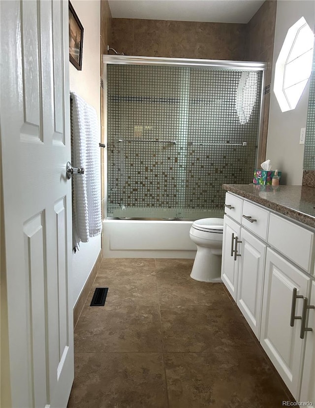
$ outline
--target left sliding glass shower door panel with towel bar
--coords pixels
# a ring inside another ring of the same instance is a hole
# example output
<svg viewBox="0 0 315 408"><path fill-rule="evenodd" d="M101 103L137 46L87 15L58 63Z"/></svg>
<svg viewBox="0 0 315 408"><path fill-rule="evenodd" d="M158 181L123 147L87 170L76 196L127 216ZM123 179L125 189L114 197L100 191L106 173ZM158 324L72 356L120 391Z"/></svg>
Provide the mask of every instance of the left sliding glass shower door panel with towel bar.
<svg viewBox="0 0 315 408"><path fill-rule="evenodd" d="M107 79L108 216L174 219L185 206L189 70L109 65Z"/></svg>

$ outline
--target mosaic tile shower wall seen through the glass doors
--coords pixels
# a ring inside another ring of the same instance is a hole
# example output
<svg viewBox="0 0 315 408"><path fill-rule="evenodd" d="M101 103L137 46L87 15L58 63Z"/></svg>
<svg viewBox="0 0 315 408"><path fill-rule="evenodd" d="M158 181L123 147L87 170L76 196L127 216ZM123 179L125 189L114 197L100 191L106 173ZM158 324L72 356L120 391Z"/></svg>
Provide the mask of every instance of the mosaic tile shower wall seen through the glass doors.
<svg viewBox="0 0 315 408"><path fill-rule="evenodd" d="M241 75L107 65L109 217L125 207L222 210L223 183L252 182L261 72L246 124L235 108Z"/></svg>

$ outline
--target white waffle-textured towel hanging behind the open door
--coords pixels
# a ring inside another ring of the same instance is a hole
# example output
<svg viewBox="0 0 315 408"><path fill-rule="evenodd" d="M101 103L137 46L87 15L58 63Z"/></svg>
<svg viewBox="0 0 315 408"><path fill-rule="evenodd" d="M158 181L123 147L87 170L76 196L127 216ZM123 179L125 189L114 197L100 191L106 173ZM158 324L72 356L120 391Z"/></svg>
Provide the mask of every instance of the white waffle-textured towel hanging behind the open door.
<svg viewBox="0 0 315 408"><path fill-rule="evenodd" d="M84 167L72 178L74 248L102 230L100 198L99 129L95 109L71 92L72 165Z"/></svg>

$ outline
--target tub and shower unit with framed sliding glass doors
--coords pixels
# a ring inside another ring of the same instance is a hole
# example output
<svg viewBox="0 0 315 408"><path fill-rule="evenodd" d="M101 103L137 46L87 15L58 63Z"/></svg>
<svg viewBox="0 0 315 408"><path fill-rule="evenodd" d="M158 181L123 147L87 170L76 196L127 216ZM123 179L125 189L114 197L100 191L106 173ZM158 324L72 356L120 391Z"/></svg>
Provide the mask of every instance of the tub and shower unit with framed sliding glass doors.
<svg viewBox="0 0 315 408"><path fill-rule="evenodd" d="M103 66L104 255L193 258L193 221L223 218L222 184L252 182L266 66L121 55Z"/></svg>

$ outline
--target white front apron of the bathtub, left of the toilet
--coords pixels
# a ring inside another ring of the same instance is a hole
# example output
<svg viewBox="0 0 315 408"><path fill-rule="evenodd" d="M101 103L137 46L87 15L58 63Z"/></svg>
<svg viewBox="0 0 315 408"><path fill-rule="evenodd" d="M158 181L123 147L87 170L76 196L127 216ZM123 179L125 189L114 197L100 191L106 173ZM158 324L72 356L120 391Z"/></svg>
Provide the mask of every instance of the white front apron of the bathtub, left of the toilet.
<svg viewBox="0 0 315 408"><path fill-rule="evenodd" d="M105 258L191 258L197 247L189 238L193 221L103 220Z"/></svg>

